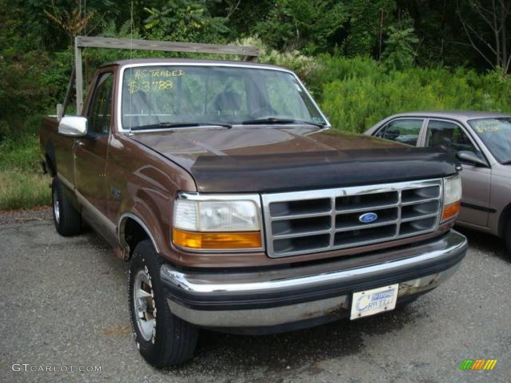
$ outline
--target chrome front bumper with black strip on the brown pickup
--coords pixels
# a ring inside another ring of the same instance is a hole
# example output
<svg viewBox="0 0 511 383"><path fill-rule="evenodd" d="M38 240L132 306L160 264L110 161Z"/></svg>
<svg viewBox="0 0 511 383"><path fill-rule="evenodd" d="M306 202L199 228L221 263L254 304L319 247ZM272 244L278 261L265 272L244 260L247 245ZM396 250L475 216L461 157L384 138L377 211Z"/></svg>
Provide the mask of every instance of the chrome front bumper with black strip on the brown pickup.
<svg viewBox="0 0 511 383"><path fill-rule="evenodd" d="M400 284L399 304L449 278L466 251L467 239L451 230L413 247L325 264L215 273L163 265L160 277L172 313L187 322L220 329L272 327L342 318L353 292L391 283Z"/></svg>

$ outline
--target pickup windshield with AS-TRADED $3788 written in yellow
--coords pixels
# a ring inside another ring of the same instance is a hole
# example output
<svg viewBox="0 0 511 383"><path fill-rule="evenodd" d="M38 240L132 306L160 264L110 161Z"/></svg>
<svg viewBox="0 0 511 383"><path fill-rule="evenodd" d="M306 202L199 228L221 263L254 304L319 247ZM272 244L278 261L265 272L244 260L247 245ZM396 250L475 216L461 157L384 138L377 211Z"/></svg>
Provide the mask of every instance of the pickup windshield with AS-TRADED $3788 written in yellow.
<svg viewBox="0 0 511 383"><path fill-rule="evenodd" d="M280 70L224 66L137 66L124 70L122 126L297 121L326 125L305 89ZM177 126L177 125L176 125Z"/></svg>

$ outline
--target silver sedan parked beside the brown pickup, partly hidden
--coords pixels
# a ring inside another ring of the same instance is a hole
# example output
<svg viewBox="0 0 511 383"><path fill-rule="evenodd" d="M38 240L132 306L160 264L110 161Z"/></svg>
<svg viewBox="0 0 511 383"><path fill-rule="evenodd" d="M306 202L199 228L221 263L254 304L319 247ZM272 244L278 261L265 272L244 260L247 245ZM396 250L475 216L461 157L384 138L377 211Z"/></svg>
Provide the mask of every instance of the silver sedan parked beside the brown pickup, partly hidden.
<svg viewBox="0 0 511 383"><path fill-rule="evenodd" d="M452 149L463 167L457 224L504 239L511 255L511 115L493 112L409 112L365 132L416 147Z"/></svg>

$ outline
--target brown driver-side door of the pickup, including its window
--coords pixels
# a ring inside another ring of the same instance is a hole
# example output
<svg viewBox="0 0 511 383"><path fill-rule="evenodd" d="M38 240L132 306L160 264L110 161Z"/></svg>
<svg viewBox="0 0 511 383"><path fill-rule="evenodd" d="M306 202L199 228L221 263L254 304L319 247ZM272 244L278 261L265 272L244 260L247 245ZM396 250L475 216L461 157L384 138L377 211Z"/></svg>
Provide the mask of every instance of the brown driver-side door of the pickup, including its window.
<svg viewBox="0 0 511 383"><path fill-rule="evenodd" d="M103 224L108 224L105 168L112 117L112 91L113 73L100 74L87 110L87 135L75 143L75 185L78 198L85 209L93 213L92 218L99 219Z"/></svg>

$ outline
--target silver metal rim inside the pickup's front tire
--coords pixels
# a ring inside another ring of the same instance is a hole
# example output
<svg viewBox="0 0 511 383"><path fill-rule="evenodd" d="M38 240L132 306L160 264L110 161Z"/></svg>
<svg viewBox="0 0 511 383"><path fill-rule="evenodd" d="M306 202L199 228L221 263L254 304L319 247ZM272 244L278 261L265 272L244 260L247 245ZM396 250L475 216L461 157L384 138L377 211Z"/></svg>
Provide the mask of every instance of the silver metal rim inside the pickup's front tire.
<svg viewBox="0 0 511 383"><path fill-rule="evenodd" d="M135 308L135 317L138 330L146 341L154 343L156 332L156 306L154 303L154 293L151 284L151 278L145 270L139 270L135 276L133 284L133 305Z"/></svg>

